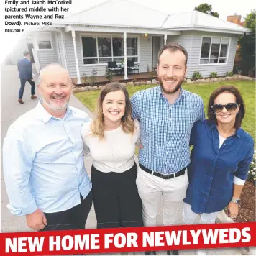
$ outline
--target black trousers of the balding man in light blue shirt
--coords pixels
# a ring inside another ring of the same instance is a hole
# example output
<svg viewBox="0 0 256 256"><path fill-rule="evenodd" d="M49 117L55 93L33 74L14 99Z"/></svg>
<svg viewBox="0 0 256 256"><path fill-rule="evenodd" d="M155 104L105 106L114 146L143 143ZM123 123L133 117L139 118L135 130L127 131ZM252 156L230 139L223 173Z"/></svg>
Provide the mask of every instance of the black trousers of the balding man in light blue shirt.
<svg viewBox="0 0 256 256"><path fill-rule="evenodd" d="M45 213L47 225L41 231L85 229L86 219L93 203L93 193L90 191L86 198L83 199L82 196L80 198L81 204L66 211Z"/></svg>

